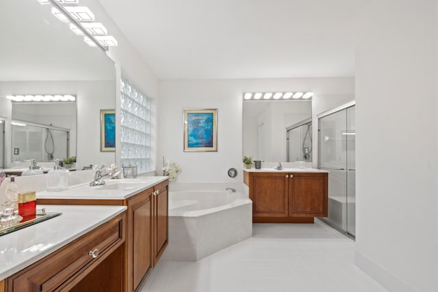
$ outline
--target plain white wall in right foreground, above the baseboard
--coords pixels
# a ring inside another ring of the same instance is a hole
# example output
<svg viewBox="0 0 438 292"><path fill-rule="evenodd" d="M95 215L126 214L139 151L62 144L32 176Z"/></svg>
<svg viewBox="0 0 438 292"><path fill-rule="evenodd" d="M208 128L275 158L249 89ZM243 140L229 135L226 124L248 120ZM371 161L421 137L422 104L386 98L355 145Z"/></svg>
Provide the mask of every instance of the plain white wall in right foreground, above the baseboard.
<svg viewBox="0 0 438 292"><path fill-rule="evenodd" d="M356 263L438 291L436 0L371 0L356 51Z"/></svg>

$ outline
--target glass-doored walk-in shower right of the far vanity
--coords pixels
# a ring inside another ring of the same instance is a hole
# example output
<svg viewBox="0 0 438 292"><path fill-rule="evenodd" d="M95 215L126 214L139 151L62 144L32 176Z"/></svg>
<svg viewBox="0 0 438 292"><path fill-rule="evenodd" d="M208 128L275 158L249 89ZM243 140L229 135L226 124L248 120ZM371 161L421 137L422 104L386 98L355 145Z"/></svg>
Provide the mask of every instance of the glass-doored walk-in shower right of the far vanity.
<svg viewBox="0 0 438 292"><path fill-rule="evenodd" d="M319 114L318 133L318 168L329 172L329 217L322 220L355 237L355 102Z"/></svg>

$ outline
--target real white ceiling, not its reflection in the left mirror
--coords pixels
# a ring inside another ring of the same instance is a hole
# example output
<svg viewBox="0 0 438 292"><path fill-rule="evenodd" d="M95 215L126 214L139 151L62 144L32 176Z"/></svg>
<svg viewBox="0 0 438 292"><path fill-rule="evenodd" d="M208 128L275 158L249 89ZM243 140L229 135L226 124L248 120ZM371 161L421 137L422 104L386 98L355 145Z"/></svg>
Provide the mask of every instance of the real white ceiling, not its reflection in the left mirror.
<svg viewBox="0 0 438 292"><path fill-rule="evenodd" d="M158 79L352 77L368 0L99 0Z"/></svg>

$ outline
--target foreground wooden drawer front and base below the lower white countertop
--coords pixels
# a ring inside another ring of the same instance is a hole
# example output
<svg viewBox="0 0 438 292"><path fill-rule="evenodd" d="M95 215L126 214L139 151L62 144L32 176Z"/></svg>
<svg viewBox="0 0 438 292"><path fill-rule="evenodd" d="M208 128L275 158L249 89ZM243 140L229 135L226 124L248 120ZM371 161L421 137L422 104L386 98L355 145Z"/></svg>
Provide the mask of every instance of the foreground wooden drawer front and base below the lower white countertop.
<svg viewBox="0 0 438 292"><path fill-rule="evenodd" d="M126 221L118 215L10 276L5 291L123 291Z"/></svg>

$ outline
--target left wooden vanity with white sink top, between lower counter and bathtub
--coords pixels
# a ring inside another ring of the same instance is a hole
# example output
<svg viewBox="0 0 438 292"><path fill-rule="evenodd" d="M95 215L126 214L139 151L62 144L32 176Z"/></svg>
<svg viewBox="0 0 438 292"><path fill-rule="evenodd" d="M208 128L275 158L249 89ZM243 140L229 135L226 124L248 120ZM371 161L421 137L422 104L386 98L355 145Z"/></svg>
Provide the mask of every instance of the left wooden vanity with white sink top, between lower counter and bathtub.
<svg viewBox="0 0 438 292"><path fill-rule="evenodd" d="M107 180L66 191L37 193L38 204L127 206L127 238L123 249L123 291L135 291L168 245L168 177ZM99 208L99 207L96 207Z"/></svg>

